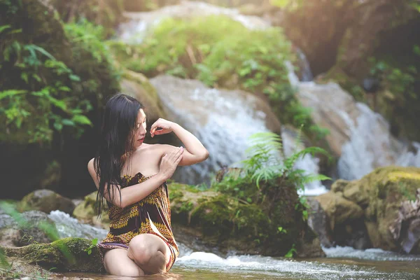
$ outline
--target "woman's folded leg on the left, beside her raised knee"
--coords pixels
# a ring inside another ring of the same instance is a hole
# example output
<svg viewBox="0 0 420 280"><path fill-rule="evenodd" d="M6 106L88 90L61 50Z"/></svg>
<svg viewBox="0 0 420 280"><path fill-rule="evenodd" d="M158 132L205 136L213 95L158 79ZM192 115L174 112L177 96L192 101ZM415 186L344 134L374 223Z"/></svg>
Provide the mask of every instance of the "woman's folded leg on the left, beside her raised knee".
<svg viewBox="0 0 420 280"><path fill-rule="evenodd" d="M104 267L111 275L119 276L144 276L144 271L127 256L127 250L114 248L104 254Z"/></svg>

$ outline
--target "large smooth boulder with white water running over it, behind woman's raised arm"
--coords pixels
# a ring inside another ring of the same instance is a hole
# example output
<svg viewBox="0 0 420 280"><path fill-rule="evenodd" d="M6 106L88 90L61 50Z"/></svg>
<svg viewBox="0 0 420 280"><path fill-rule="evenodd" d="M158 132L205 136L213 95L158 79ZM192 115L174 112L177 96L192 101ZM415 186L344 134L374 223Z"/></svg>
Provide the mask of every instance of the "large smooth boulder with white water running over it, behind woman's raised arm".
<svg viewBox="0 0 420 280"><path fill-rule="evenodd" d="M245 158L251 134L281 132L268 102L251 92L211 88L199 80L168 75L152 78L151 84L169 119L193 133L214 155L175 172L172 178L177 182L209 183L211 172Z"/></svg>

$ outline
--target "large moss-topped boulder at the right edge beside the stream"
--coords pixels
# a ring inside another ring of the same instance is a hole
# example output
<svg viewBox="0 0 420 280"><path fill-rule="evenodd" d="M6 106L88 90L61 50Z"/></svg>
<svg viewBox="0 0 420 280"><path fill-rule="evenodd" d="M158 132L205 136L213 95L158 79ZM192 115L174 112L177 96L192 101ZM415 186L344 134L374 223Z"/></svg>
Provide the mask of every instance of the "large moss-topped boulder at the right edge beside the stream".
<svg viewBox="0 0 420 280"><path fill-rule="evenodd" d="M419 188L419 168L381 167L360 180L337 181L316 200L337 244L344 235L347 245L420 253Z"/></svg>

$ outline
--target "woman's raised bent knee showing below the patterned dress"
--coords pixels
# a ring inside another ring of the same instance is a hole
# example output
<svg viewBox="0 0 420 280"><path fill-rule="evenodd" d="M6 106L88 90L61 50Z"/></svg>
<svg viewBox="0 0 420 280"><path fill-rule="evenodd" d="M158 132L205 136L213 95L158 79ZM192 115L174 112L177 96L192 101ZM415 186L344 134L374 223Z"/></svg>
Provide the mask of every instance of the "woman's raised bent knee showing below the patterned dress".
<svg viewBox="0 0 420 280"><path fill-rule="evenodd" d="M146 274L165 273L171 251L156 235L144 233L133 237L127 251L132 259Z"/></svg>

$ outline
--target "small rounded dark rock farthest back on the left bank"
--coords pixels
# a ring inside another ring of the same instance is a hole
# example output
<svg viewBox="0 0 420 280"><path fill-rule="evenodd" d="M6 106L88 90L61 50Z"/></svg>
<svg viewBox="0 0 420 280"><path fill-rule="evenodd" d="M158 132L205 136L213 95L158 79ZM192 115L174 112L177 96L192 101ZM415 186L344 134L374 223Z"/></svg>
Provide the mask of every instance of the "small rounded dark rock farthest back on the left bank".
<svg viewBox="0 0 420 280"><path fill-rule="evenodd" d="M38 210L50 214L50 211L59 210L72 214L75 207L71 200L52 190L35 190L22 198L18 204L18 211Z"/></svg>

